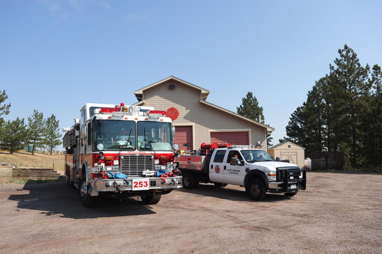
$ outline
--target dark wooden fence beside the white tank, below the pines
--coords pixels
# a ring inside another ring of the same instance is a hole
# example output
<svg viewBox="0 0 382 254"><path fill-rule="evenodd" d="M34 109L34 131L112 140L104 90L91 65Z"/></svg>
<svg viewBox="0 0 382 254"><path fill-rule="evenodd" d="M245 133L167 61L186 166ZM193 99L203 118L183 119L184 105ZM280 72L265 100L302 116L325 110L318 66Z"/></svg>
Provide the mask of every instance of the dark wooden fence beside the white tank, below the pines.
<svg viewBox="0 0 382 254"><path fill-rule="evenodd" d="M344 154L341 151L311 152L312 171L342 170L344 167Z"/></svg>

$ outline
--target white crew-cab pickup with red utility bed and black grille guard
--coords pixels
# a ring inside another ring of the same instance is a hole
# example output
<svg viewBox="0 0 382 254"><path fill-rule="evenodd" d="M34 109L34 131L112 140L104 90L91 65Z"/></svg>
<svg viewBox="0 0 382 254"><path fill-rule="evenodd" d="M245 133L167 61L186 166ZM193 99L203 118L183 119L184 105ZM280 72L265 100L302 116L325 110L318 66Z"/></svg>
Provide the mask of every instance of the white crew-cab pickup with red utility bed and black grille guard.
<svg viewBox="0 0 382 254"><path fill-rule="evenodd" d="M267 152L249 146L213 149L206 155L180 155L178 162L185 188L195 188L199 182L217 187L236 184L245 187L254 200L262 200L266 192L294 196L306 188L305 169L276 161Z"/></svg>

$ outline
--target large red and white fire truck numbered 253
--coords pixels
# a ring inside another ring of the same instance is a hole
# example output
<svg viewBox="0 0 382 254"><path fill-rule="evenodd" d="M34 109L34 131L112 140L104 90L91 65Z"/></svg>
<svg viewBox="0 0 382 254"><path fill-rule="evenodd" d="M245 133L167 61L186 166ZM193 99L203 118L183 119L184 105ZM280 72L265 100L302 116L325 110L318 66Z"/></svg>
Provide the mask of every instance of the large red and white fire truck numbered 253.
<svg viewBox="0 0 382 254"><path fill-rule="evenodd" d="M182 187L173 144L175 128L166 111L121 103L86 103L81 118L63 128L68 186L85 206L100 195L140 196L156 204Z"/></svg>

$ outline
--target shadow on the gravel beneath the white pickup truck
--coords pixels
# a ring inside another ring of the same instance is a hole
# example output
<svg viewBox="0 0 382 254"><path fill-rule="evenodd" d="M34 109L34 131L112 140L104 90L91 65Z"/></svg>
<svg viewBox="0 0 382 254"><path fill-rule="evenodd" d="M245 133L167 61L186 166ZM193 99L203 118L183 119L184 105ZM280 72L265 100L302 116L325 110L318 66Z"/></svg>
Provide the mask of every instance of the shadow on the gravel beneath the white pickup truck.
<svg viewBox="0 0 382 254"><path fill-rule="evenodd" d="M232 186L235 186L235 185L229 184L226 187L218 188L213 184L199 184L199 186L195 189L181 188L179 189L179 191L194 194L194 197L209 196L209 197L216 197L221 199L228 199L232 201L278 202L278 201L289 199L289 197L285 196L284 194L267 193L265 195L264 200L255 201L255 200L252 200L250 196L246 193L244 187L243 189L238 190L238 189L231 189Z"/></svg>

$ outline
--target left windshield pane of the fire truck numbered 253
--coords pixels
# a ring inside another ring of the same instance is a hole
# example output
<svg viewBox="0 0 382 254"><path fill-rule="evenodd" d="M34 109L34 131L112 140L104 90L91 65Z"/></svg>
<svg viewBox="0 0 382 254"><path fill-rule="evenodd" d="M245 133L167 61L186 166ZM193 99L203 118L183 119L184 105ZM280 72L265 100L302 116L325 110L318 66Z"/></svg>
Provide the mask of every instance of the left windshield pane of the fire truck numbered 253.
<svg viewBox="0 0 382 254"><path fill-rule="evenodd" d="M131 130L131 134L130 134ZM128 144L127 139L130 134ZM93 151L102 144L103 149L119 151L125 146L124 151L135 150L135 122L123 120L94 120L93 122ZM101 147L102 147L101 146Z"/></svg>

